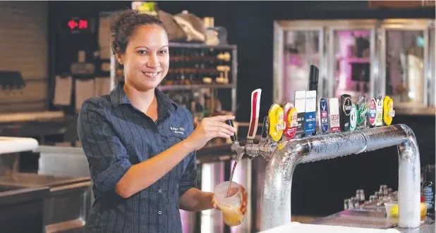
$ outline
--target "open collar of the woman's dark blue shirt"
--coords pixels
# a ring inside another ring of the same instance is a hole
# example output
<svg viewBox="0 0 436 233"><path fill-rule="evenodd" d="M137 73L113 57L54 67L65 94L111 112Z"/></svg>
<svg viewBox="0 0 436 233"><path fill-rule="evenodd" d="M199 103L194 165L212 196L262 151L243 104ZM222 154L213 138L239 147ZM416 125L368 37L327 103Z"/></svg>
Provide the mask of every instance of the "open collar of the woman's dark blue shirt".
<svg viewBox="0 0 436 233"><path fill-rule="evenodd" d="M124 92L123 86L124 86L124 82L119 82L118 84L116 84L116 87L113 90L111 90L110 96L111 96L112 106L114 106L114 108L116 106L123 105L123 104L130 104L131 106L133 106L131 101L128 99L126 95L126 92ZM177 104L174 103L174 101L169 99L169 97L166 96L166 94L164 94L157 88L155 88L155 96L157 99L157 105L159 106L158 107L159 115L167 111L170 113L174 113L176 111Z"/></svg>

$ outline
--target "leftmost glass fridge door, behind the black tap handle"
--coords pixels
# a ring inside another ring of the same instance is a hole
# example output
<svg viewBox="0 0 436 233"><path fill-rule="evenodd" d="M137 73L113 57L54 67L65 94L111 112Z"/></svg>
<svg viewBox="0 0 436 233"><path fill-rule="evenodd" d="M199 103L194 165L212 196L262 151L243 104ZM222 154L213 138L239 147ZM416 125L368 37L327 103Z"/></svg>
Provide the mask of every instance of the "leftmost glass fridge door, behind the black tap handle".
<svg viewBox="0 0 436 233"><path fill-rule="evenodd" d="M294 21L274 23L274 103L293 102L296 91L308 88L310 65L320 69L320 77L325 74L321 71L323 47L321 24L311 21L303 25Z"/></svg>

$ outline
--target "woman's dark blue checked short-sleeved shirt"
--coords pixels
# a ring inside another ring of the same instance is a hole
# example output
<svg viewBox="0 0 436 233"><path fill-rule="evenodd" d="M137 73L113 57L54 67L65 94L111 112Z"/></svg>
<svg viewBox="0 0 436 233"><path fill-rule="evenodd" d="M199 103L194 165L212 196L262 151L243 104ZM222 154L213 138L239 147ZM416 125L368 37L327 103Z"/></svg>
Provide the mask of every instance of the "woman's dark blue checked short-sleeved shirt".
<svg viewBox="0 0 436 233"><path fill-rule="evenodd" d="M90 165L95 195L87 232L182 232L178 203L188 189L196 187L195 152L127 199L114 191L132 165L157 156L193 132L188 109L157 89L155 95L156 122L131 104L122 84L109 95L87 99L80 109L78 135Z"/></svg>

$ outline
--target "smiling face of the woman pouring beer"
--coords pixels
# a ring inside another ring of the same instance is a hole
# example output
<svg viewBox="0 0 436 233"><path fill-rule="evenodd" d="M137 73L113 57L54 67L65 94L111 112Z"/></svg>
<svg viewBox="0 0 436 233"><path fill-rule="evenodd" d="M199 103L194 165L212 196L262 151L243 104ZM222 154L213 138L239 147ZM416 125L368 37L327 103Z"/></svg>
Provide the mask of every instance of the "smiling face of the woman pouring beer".
<svg viewBox="0 0 436 233"><path fill-rule="evenodd" d="M140 92L157 87L168 73L168 35L158 25L133 30L124 54L117 55L124 66L126 84Z"/></svg>

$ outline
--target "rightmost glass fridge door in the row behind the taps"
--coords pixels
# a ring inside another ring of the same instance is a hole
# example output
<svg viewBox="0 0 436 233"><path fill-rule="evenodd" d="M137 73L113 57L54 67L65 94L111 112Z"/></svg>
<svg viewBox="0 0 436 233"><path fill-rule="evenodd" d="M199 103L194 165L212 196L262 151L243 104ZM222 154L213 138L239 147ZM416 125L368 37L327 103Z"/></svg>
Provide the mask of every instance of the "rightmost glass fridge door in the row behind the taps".
<svg viewBox="0 0 436 233"><path fill-rule="evenodd" d="M434 20L384 20L380 35L382 95L399 108L434 106Z"/></svg>

